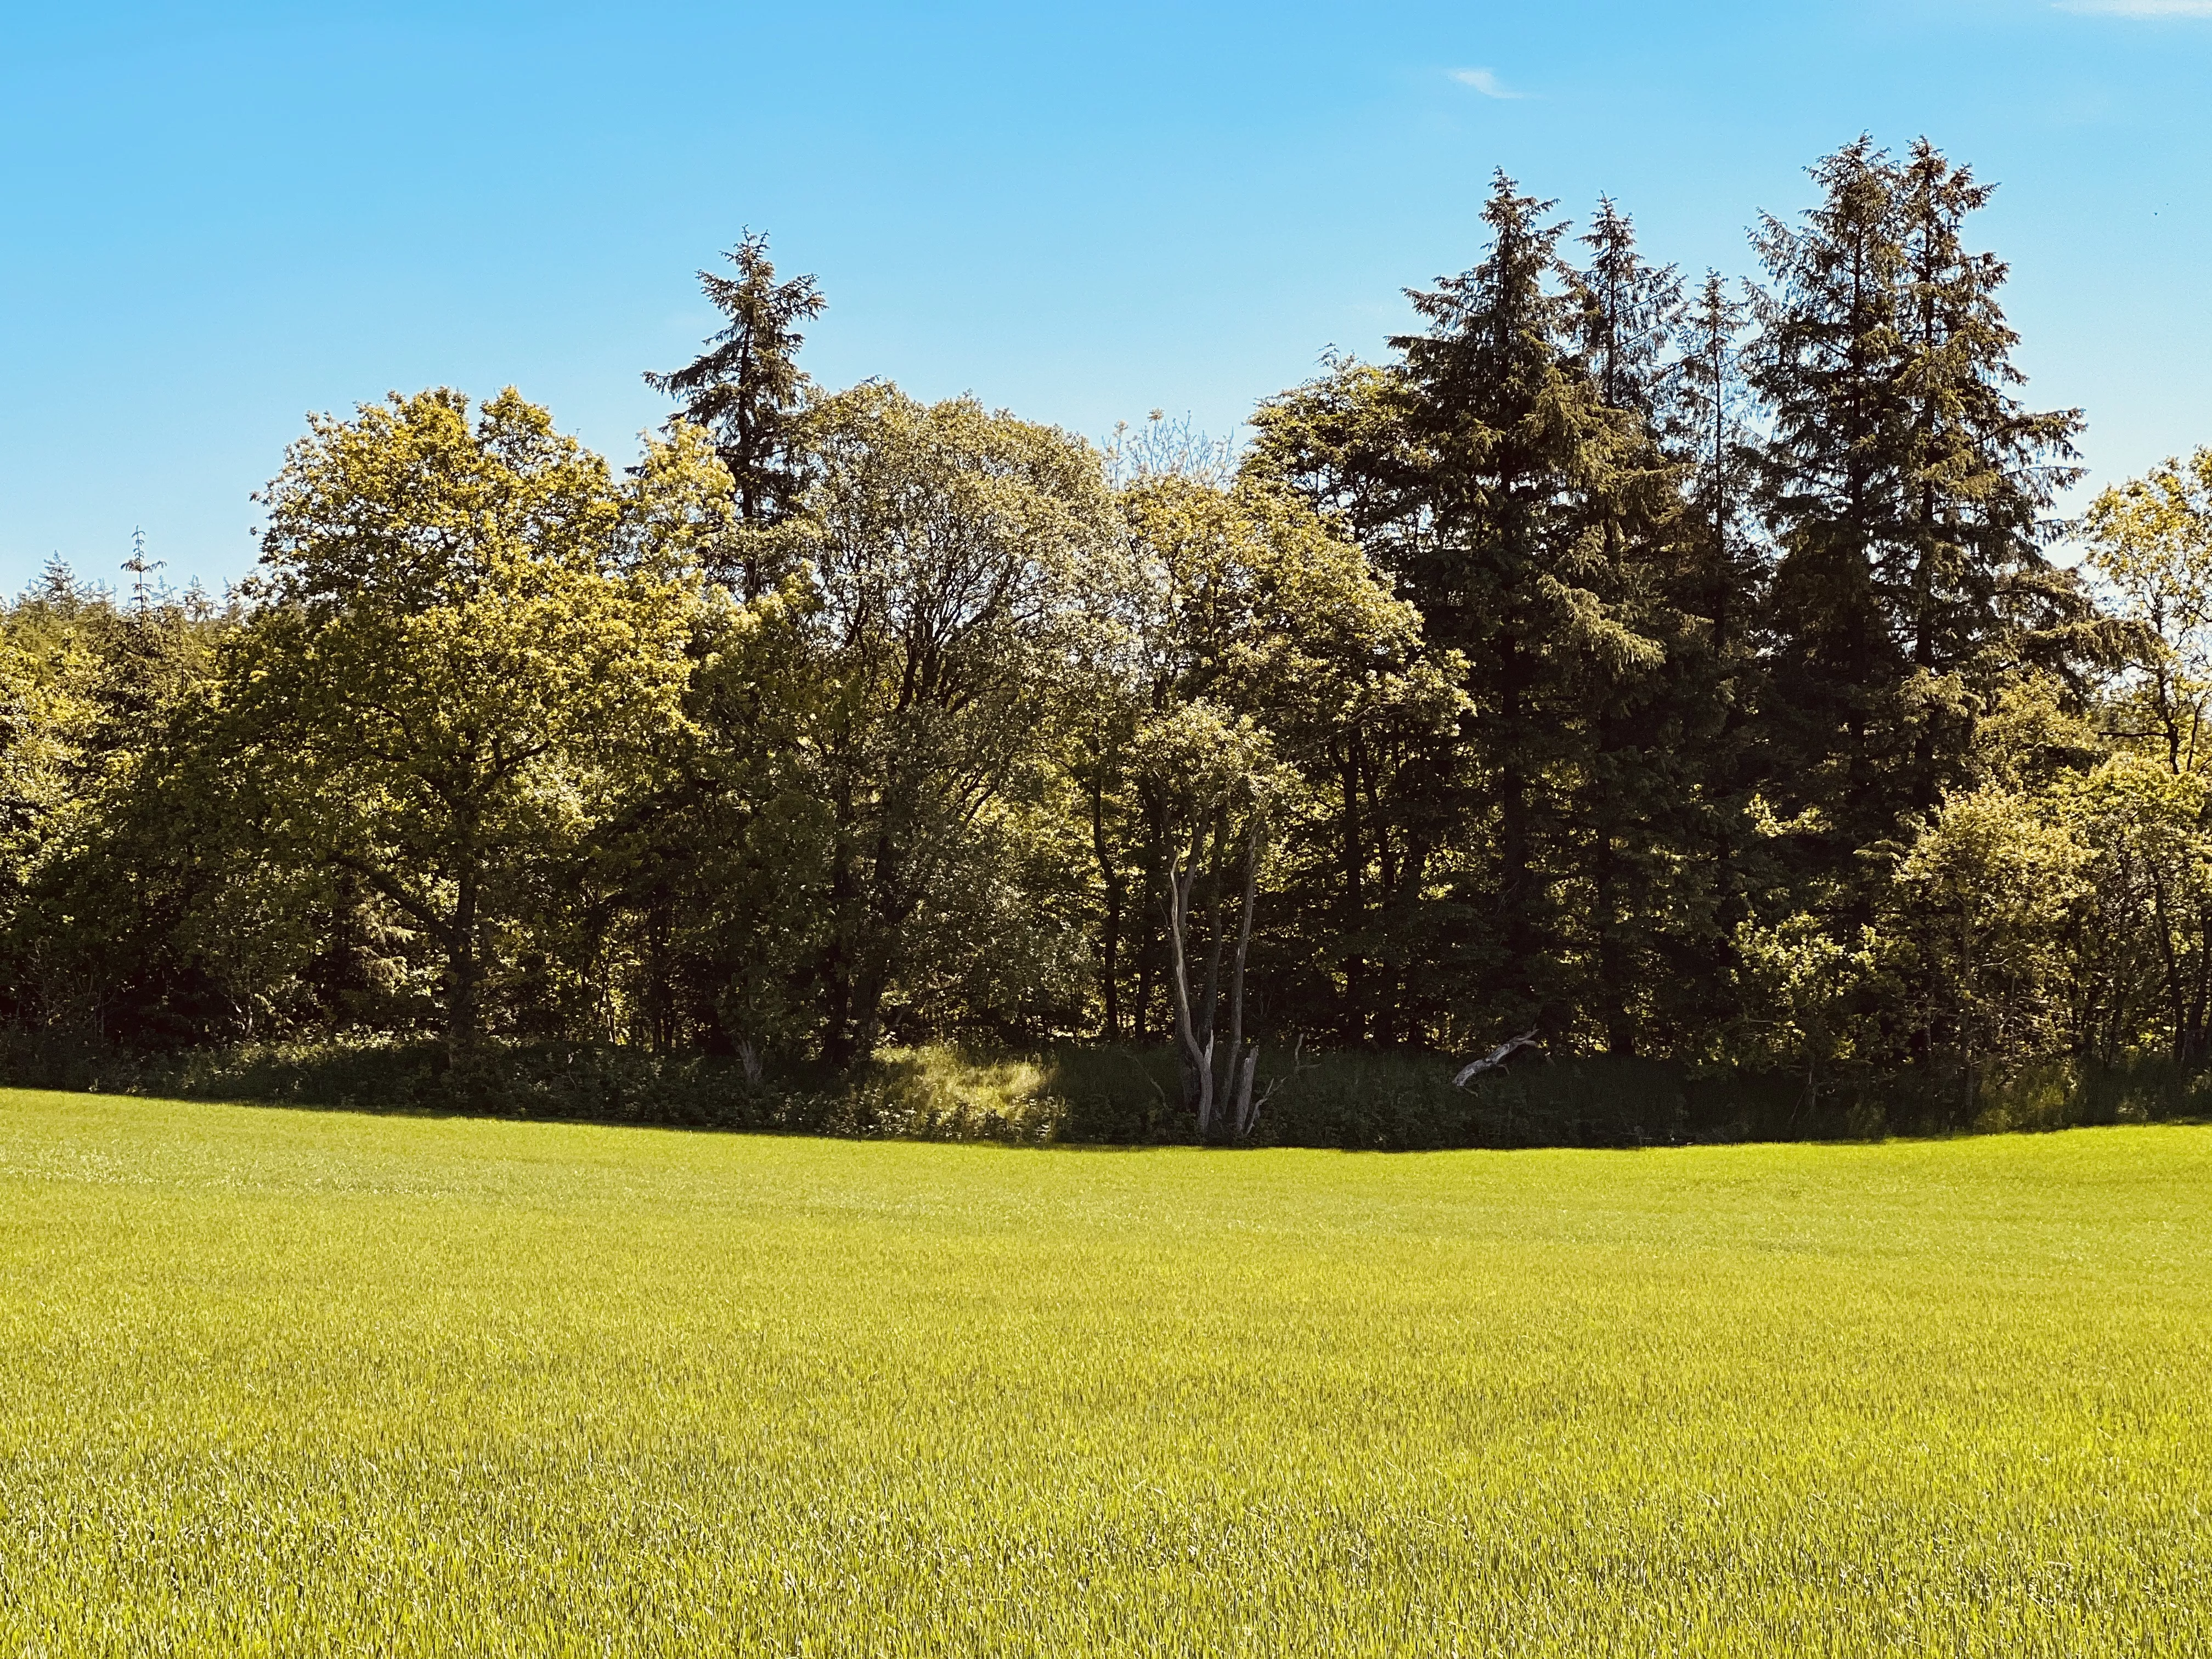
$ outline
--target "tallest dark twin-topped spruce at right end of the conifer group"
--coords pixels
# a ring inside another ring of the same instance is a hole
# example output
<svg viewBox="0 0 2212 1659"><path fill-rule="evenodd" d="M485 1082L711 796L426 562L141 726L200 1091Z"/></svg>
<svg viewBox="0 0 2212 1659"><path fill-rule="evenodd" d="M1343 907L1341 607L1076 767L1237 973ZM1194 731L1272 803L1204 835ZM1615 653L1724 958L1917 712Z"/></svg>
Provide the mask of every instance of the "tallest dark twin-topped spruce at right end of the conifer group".
<svg viewBox="0 0 2212 1659"><path fill-rule="evenodd" d="M1986 186L1924 139L1898 164L1858 137L1812 177L1801 226L1754 232L1774 283L1754 301L1759 493L1781 551L1765 732L1772 792L1814 810L1807 845L1865 914L1856 852L1964 776L1997 677L2079 617L2039 542L2081 418L2011 394L2004 265L1960 234Z"/></svg>

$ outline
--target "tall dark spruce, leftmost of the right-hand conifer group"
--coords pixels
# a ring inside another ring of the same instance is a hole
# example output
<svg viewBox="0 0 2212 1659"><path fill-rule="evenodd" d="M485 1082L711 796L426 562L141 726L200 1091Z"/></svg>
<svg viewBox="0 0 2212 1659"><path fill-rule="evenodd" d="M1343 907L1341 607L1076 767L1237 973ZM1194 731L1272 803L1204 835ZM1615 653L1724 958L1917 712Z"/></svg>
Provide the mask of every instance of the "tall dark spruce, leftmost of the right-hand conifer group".
<svg viewBox="0 0 2212 1659"><path fill-rule="evenodd" d="M1644 476L1644 422L1606 407L1573 354L1577 290L1553 204L1498 175L1489 257L1413 292L1425 334L1405 358L1411 480L1431 535L1402 573L1431 639L1467 655L1475 714L1458 801L1489 845L1469 940L1475 1031L1535 1024L1566 1035L1566 845L1573 770L1586 765L1590 675L1652 668L1663 653L1626 604L1610 518ZM1473 874L1473 872L1469 872Z"/></svg>

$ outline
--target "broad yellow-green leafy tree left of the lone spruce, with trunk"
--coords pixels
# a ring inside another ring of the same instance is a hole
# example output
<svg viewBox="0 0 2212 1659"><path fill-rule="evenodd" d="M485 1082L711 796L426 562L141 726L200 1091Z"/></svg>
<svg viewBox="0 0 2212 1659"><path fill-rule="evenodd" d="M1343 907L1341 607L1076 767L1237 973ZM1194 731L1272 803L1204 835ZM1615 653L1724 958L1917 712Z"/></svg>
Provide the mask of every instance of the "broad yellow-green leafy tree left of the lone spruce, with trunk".
<svg viewBox="0 0 2212 1659"><path fill-rule="evenodd" d="M321 416L263 500L268 575L228 717L272 852L374 885L449 958L473 1040L480 931L557 865L679 719L726 473L677 429L637 480L513 389Z"/></svg>

